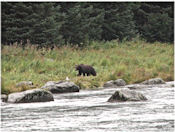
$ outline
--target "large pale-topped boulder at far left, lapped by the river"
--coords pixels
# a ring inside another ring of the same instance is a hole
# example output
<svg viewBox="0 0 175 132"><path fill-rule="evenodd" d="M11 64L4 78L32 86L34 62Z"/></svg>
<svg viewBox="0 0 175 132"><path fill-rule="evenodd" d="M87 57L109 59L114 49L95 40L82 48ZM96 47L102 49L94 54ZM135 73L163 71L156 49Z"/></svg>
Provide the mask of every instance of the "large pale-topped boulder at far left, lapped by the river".
<svg viewBox="0 0 175 132"><path fill-rule="evenodd" d="M9 103L32 103L54 101L51 92L44 89L31 89L23 92L16 92L8 95Z"/></svg>

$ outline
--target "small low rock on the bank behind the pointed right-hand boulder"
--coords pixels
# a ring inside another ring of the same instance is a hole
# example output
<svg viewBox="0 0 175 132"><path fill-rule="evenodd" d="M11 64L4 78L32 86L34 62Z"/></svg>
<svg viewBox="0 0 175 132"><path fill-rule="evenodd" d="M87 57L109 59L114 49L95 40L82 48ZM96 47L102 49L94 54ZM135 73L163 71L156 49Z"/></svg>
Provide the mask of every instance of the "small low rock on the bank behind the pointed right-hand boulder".
<svg viewBox="0 0 175 132"><path fill-rule="evenodd" d="M106 82L103 87L117 87L117 86L125 86L126 82L123 79L111 80Z"/></svg>

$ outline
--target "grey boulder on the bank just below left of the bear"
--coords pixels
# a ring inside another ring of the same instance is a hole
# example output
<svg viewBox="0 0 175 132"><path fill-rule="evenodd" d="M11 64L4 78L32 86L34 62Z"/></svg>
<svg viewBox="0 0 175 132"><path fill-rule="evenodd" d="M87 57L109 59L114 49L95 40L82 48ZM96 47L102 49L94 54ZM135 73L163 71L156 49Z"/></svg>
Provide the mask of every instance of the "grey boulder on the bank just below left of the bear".
<svg viewBox="0 0 175 132"><path fill-rule="evenodd" d="M80 89L75 83L69 81L49 81L41 88L47 89L52 93L79 92Z"/></svg>

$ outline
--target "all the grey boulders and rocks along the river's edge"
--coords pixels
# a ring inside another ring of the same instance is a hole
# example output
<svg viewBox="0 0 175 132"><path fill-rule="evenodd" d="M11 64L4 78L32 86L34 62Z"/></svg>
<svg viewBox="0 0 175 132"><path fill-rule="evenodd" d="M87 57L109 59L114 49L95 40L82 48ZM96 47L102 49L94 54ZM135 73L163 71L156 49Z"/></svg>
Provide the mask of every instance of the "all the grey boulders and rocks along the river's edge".
<svg viewBox="0 0 175 132"><path fill-rule="evenodd" d="M145 101L147 97L140 92L134 91L136 89L147 88L149 85L165 84L166 82L161 78L153 78L146 80L139 84L126 85L123 79L111 80L104 83L103 88L116 88L116 91L107 100L108 102L121 101ZM32 87L31 81L23 81L17 86L27 85ZM171 84L171 87L174 87ZM120 89L118 89L120 88ZM7 103L32 103L32 102L48 102L54 101L53 94L79 92L80 88L71 81L49 81L41 88L26 90L23 92L11 93L9 95L2 94L1 100Z"/></svg>

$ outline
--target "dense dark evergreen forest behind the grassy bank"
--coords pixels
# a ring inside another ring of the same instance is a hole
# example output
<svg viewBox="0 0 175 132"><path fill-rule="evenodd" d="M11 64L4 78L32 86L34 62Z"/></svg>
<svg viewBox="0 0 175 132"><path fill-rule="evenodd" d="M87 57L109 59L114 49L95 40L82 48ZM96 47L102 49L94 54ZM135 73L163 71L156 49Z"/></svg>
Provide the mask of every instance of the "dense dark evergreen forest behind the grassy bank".
<svg viewBox="0 0 175 132"><path fill-rule="evenodd" d="M173 42L173 2L2 2L2 43Z"/></svg>

